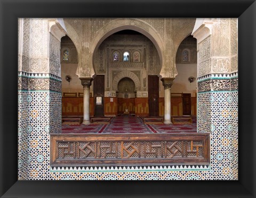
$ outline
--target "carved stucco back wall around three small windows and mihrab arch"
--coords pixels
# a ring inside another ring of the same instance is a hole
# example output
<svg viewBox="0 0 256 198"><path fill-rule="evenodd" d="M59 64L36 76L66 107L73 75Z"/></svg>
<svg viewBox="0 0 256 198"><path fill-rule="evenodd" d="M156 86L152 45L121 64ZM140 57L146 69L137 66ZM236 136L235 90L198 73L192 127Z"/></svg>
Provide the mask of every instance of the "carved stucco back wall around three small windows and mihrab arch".
<svg viewBox="0 0 256 198"><path fill-rule="evenodd" d="M113 54L119 53L119 61L113 61ZM129 62L123 61L123 53L130 53ZM133 53L140 54L134 62ZM147 91L147 76L159 75L161 71L159 56L153 43L143 35L111 35L95 51L94 71L105 75L105 91L117 91L119 80L131 78L137 91ZM120 76L122 78L120 78Z"/></svg>

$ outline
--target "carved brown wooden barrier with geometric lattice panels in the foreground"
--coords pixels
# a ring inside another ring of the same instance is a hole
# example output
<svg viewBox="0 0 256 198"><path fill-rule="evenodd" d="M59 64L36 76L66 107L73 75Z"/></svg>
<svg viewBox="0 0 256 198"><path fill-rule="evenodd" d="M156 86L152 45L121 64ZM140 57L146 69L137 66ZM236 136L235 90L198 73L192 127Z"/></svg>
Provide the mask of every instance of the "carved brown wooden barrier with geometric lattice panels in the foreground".
<svg viewBox="0 0 256 198"><path fill-rule="evenodd" d="M51 165L208 164L209 134L51 134Z"/></svg>

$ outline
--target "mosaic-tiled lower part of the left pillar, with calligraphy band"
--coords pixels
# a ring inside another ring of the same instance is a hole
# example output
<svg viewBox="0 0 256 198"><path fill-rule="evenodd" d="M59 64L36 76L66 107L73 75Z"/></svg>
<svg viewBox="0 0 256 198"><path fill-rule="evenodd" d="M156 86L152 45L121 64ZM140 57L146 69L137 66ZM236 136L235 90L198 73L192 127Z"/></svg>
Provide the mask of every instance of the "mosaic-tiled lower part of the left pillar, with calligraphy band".
<svg viewBox="0 0 256 198"><path fill-rule="evenodd" d="M61 132L61 79L52 74L18 73L18 178L49 170L49 133Z"/></svg>

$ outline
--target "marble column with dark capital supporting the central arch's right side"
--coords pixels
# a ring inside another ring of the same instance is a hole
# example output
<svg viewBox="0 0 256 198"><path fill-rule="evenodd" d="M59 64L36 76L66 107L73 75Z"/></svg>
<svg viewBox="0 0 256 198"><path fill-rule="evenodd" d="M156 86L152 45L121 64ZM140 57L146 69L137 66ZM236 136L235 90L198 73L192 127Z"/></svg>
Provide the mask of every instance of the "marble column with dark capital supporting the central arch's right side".
<svg viewBox="0 0 256 198"><path fill-rule="evenodd" d="M171 122L171 87L174 78L162 78L164 86L164 124L172 124Z"/></svg>

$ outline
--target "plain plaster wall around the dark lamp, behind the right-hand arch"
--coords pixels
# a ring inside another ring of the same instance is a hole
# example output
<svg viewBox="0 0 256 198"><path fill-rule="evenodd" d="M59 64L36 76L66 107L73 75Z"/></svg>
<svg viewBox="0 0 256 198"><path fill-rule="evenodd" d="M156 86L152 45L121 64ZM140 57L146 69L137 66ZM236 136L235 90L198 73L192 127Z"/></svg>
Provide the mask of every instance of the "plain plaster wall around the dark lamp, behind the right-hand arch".
<svg viewBox="0 0 256 198"><path fill-rule="evenodd" d="M196 96L197 81L189 82L188 78L194 76L197 78L196 64L177 64L178 75L175 77L171 93L191 93L191 97Z"/></svg>

